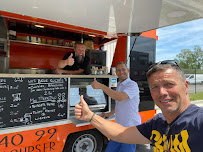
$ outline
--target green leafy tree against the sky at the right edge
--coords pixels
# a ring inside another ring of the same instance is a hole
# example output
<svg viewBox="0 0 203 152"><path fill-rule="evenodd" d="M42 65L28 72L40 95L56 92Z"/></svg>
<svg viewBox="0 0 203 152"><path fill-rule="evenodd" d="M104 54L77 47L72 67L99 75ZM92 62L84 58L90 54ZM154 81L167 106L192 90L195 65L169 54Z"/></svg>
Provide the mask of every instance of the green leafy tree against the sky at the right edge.
<svg viewBox="0 0 203 152"><path fill-rule="evenodd" d="M202 69L203 51L199 45L195 45L194 51L182 49L181 53L174 59L183 69Z"/></svg>

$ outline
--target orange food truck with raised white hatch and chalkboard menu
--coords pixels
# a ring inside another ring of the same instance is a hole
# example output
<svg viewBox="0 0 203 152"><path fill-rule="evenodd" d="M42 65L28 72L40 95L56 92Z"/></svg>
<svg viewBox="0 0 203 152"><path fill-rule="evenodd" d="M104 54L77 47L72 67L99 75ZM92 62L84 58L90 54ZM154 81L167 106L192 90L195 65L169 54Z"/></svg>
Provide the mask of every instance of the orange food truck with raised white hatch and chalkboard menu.
<svg viewBox="0 0 203 152"><path fill-rule="evenodd" d="M203 16L198 0L0 3L0 152L103 151L107 137L74 118L79 96L98 114L110 111L113 100L90 84L97 78L115 88L110 69L124 61L140 88L142 122L152 118L145 73L155 62L155 29ZM55 74L76 41L86 45L90 74Z"/></svg>

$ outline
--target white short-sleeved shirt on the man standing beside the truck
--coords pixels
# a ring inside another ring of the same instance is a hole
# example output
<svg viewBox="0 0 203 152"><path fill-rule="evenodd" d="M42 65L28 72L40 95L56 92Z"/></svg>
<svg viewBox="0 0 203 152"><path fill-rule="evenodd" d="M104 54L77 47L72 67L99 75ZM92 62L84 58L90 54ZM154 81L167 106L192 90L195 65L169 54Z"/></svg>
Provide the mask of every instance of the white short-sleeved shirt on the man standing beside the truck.
<svg viewBox="0 0 203 152"><path fill-rule="evenodd" d="M118 83L116 91L125 92L129 98L120 102L115 101L115 121L124 127L139 125L141 117L138 113L140 96L137 83L127 78Z"/></svg>

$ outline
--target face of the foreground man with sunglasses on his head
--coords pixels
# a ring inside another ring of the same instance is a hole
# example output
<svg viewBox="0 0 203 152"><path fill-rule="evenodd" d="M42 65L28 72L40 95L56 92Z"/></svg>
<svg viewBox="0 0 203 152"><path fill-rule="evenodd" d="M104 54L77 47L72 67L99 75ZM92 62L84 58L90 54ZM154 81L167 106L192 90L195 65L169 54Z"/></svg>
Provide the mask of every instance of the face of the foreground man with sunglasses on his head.
<svg viewBox="0 0 203 152"><path fill-rule="evenodd" d="M158 71L148 78L155 104L163 113L179 114L183 111L188 94L188 82L172 68Z"/></svg>

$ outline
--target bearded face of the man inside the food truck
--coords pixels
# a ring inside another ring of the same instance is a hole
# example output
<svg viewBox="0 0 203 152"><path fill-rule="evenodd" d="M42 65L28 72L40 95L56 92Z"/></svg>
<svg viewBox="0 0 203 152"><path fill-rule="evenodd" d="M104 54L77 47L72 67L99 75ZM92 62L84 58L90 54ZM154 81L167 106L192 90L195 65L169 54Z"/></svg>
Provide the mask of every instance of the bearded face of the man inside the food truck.
<svg viewBox="0 0 203 152"><path fill-rule="evenodd" d="M84 61L85 57L85 46L83 44L77 44L75 48L75 57L76 60L81 63Z"/></svg>

